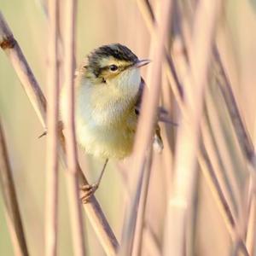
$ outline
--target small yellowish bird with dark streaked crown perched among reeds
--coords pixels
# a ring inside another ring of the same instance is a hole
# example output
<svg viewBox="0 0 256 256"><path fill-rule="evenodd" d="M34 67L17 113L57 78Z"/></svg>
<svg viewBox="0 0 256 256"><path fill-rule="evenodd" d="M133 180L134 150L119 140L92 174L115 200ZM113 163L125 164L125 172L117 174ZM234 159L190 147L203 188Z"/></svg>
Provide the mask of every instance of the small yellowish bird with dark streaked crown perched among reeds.
<svg viewBox="0 0 256 256"><path fill-rule="evenodd" d="M93 50L79 67L75 79L75 125L78 143L88 154L105 159L98 181L85 186L83 201L99 186L108 159L131 154L144 82L139 60L122 44ZM67 93L61 90L61 115L67 111ZM163 148L160 127L155 125L154 144Z"/></svg>

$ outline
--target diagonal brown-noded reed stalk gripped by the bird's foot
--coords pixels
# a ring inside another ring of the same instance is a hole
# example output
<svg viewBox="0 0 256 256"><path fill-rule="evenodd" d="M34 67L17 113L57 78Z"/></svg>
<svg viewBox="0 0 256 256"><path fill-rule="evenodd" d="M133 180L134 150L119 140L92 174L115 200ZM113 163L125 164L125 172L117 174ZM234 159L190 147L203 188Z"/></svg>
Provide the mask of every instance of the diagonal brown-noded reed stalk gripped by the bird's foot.
<svg viewBox="0 0 256 256"><path fill-rule="evenodd" d="M29 67L25 56L22 54L19 44L15 40L12 32L9 29L6 21L0 12L0 47L4 50L6 55L9 57L15 72L17 73L20 82L26 90L26 95L32 103L35 112L38 114L38 118L42 125L45 127L46 119L46 101L44 94L40 89L37 80L35 79L31 68ZM59 148L59 157L64 166L66 163L66 153L65 153L65 139L63 137L62 131L59 132L59 143L61 147ZM79 182L81 185L89 184L84 173L79 168ZM119 243L113 234L113 230L108 224L108 220L102 212L102 208L96 197L93 195L90 197L90 202L84 204L84 211L90 220L90 224L96 231L96 235L104 248L104 251L108 255L113 255L116 253Z"/></svg>

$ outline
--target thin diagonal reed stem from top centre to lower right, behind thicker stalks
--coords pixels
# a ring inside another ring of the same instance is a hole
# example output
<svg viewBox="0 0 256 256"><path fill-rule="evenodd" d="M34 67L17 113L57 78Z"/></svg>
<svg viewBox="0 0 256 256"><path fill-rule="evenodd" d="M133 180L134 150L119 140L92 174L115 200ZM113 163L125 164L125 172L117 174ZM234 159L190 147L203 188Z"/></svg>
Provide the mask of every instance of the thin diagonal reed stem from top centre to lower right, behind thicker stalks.
<svg viewBox="0 0 256 256"><path fill-rule="evenodd" d="M145 0L137 0L139 9L143 15L143 18L145 20L145 23L148 27L148 30L150 33L154 33L154 19L150 17L152 17L151 13L152 13L152 9L150 7L150 5L148 5L148 3L146 3L147 1ZM154 17L154 14L153 14ZM185 19L185 17L183 16L183 19ZM185 26L186 28L188 28L187 23L185 22L186 20L182 21L183 26ZM183 33L184 33L184 29L183 29ZM183 35L184 36L184 35ZM185 31L185 38L187 39L187 41L191 41L191 39L189 38L190 34L189 32L186 30ZM180 47L180 46L179 46ZM180 49L179 50L179 57L180 57ZM174 93L175 99L177 100L177 104L178 107L180 108L183 116L186 115L185 113L185 107L183 104L183 93L181 90L181 85L180 82L178 81L177 78L177 72L175 71L175 67L173 66L173 61L172 58L169 58L168 61L168 53L166 52L166 65L165 65L165 69L164 71L166 72L167 75L167 79L169 80L169 83L172 86L172 91ZM185 61L181 62L180 64L178 64L177 66L180 65L187 65L185 64ZM181 75L181 78L183 78L183 75ZM201 124L201 131L203 132L204 136L207 139L211 139L210 134L207 132L207 126L206 125L202 125ZM209 143L206 144L206 147L208 148L208 146L211 146ZM229 191L227 190L226 187L224 186L220 186L219 183L222 182L222 180L219 180L219 176L221 176L221 170L219 170L220 172L218 172L218 170L216 169L212 169L211 163L209 162L208 159L204 159L204 157L206 157L207 152L206 152L206 148L201 148L201 152L197 155L198 160L199 160L199 164L201 166L201 170L203 171L203 175L206 177L207 183L209 184L213 197L217 202L219 211L221 212L222 216L224 217L225 220L225 224L227 226L227 229L230 231L230 236L232 236L233 238L235 237L235 233L234 233L234 229L235 229L235 215L234 211L231 210L231 206L229 204L229 201L226 200L226 196L229 196ZM226 195L226 196L224 196Z"/></svg>

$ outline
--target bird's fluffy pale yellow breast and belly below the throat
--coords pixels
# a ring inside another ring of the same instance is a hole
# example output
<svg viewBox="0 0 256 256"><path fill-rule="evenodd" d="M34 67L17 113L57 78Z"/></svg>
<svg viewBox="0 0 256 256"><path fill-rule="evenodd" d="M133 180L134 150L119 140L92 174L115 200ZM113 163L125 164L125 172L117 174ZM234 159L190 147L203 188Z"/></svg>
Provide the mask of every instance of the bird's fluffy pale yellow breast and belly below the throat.
<svg viewBox="0 0 256 256"><path fill-rule="evenodd" d="M67 94L61 92L61 113L67 108ZM91 87L76 89L77 140L88 154L103 158L125 158L131 154L137 124L134 100L119 90Z"/></svg>

